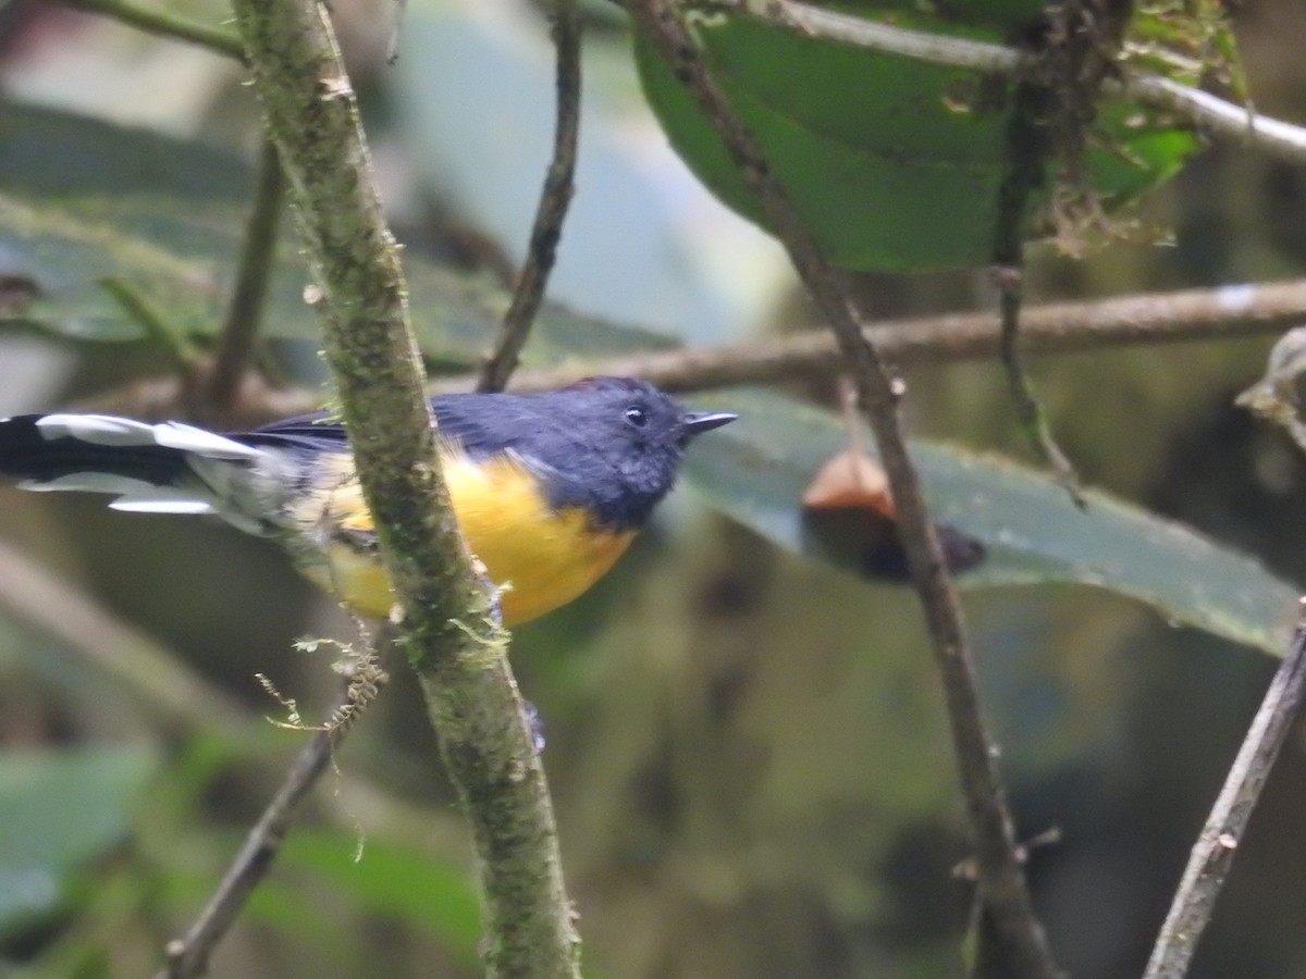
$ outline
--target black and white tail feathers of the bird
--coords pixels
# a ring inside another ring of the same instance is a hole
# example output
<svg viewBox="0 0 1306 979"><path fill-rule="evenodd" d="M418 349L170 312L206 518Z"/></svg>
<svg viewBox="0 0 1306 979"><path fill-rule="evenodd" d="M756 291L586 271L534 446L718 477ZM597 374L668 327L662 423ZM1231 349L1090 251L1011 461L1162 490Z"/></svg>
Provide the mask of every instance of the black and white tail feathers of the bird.
<svg viewBox="0 0 1306 979"><path fill-rule="evenodd" d="M110 506L213 513L225 484L263 457L251 445L178 422L111 415L20 415L0 420L0 476L25 489L112 493Z"/></svg>

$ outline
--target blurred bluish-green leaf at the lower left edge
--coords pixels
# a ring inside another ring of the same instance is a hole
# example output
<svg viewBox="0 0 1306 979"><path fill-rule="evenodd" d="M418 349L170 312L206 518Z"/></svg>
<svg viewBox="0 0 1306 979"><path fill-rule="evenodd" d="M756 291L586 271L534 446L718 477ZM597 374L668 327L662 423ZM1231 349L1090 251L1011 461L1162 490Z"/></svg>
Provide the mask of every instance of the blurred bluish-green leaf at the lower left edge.
<svg viewBox="0 0 1306 979"><path fill-rule="evenodd" d="M0 753L0 931L55 907L67 875L127 834L157 769L137 747Z"/></svg>

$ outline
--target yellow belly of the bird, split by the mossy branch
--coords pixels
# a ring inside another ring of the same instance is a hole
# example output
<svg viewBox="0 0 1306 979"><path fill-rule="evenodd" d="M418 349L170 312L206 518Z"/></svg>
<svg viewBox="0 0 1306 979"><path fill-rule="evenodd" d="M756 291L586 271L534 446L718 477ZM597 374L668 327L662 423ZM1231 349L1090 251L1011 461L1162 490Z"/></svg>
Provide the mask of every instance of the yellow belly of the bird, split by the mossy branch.
<svg viewBox="0 0 1306 979"><path fill-rule="evenodd" d="M535 619L581 595L635 536L633 531L593 527L581 509L552 510L530 474L512 459L475 465L461 456L447 458L444 478L468 547L485 564L490 581L504 589L507 625ZM340 486L324 503L317 512L329 523L371 534L371 514L357 480ZM389 615L394 600L390 581L375 548L355 547L346 536L333 539L323 557L306 568L308 577L360 615Z"/></svg>

